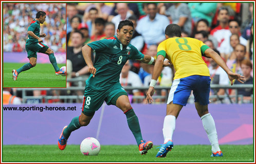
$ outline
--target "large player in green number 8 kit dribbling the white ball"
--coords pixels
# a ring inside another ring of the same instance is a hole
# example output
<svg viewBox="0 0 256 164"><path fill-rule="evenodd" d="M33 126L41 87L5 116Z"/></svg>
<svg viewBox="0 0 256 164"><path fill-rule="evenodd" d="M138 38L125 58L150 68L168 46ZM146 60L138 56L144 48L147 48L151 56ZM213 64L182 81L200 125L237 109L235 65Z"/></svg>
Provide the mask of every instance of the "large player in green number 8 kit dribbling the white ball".
<svg viewBox="0 0 256 164"><path fill-rule="evenodd" d="M152 148L152 141L146 142L142 139L138 117L131 107L127 93L119 82L121 70L128 59L155 64L153 57L142 54L130 44L133 31L133 23L130 20L123 20L119 23L117 36L92 42L82 48L91 74L86 80L81 115L74 117L61 133L58 141L61 150L65 149L67 139L72 131L89 124L95 111L101 107L104 100L107 105L117 106L126 115L128 126L136 139L139 152L145 154ZM91 58L92 52L96 53L94 63ZM163 66L169 65L169 60L164 61Z"/></svg>

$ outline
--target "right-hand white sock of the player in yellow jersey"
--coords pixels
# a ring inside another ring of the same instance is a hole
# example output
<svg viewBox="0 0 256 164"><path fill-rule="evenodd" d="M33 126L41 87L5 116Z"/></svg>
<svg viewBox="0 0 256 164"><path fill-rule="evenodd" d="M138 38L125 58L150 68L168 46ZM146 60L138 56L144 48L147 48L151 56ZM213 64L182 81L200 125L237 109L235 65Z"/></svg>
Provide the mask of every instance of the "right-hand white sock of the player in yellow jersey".
<svg viewBox="0 0 256 164"><path fill-rule="evenodd" d="M210 113L207 113L201 117L201 120L203 122L203 126L205 128L205 131L208 135L208 138L212 145L212 152L221 151L220 147L218 146L218 136L217 131L215 128L215 122L211 116Z"/></svg>

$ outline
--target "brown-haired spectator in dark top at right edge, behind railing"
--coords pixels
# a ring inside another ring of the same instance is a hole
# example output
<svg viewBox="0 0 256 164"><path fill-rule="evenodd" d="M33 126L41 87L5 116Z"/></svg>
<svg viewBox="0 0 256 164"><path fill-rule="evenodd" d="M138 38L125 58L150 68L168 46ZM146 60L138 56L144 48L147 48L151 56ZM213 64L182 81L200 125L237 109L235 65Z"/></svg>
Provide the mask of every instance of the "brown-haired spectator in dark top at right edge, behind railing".
<svg viewBox="0 0 256 164"><path fill-rule="evenodd" d="M252 71L252 64L249 59L244 59L241 61L241 69L243 72L243 75L245 76L245 81L244 84L253 84L253 78L250 74ZM235 80L234 84L239 84L239 81ZM243 101L246 101L245 103L251 103L251 95L253 94L253 88L241 88L237 89L237 94L238 95L243 95ZM235 90L232 90L231 95L235 95ZM239 100L241 100L239 98Z"/></svg>

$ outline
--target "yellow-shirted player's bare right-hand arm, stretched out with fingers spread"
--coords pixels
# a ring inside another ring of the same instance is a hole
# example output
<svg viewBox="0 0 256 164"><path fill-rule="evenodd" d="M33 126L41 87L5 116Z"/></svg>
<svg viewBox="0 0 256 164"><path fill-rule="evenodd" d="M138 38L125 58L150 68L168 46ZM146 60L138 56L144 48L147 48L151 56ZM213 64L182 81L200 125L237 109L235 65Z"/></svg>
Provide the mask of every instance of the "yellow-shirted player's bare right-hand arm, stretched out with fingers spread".
<svg viewBox="0 0 256 164"><path fill-rule="evenodd" d="M215 51L208 48L207 50L205 50L205 55L207 57L211 57L219 66L221 66L224 69L224 71L228 74L228 78L230 80L231 86L233 85L233 80L234 79L238 80L240 83L244 83L242 80L245 80L245 77L242 76L241 74L233 73L228 68L225 61L222 59L222 57L220 55L218 55Z"/></svg>

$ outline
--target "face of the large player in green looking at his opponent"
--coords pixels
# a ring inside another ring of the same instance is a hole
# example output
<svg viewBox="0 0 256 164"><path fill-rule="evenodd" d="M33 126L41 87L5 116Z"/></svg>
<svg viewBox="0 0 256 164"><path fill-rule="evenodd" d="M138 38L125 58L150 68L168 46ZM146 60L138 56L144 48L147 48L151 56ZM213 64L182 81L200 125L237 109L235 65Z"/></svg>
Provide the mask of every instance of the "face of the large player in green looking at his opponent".
<svg viewBox="0 0 256 164"><path fill-rule="evenodd" d="M117 29L117 38L120 42L126 46L130 43L130 40L133 37L133 27L125 25L123 26L120 31Z"/></svg>

